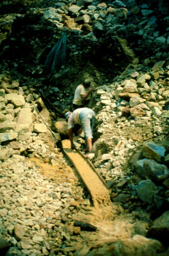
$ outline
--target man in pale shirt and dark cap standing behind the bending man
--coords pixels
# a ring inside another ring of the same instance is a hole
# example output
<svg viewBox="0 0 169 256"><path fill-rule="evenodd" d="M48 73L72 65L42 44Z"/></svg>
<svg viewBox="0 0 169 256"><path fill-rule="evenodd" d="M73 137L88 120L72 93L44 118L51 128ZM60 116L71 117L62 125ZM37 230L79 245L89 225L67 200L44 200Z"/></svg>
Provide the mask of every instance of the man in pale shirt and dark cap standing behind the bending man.
<svg viewBox="0 0 169 256"><path fill-rule="evenodd" d="M73 108L84 108L84 100L86 100L89 94L92 92L92 88L90 87L88 92L86 93L85 88L88 88L91 84L89 79L85 79L83 84L79 84L74 93L73 100Z"/></svg>

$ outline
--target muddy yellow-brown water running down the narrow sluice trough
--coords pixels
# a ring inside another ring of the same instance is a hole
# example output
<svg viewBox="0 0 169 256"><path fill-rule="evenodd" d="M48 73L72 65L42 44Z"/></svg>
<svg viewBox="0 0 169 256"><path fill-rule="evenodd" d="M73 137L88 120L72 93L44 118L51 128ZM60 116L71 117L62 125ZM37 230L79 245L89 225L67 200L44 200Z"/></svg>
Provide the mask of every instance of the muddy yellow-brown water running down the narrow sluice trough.
<svg viewBox="0 0 169 256"><path fill-rule="evenodd" d="M97 174L92 170L86 159L84 159L76 150L72 150L70 148L69 140L63 140L62 144L64 151L72 160L72 163L80 174L85 186L88 188L92 196L94 206L97 207L98 205L109 205L109 190L105 187Z"/></svg>

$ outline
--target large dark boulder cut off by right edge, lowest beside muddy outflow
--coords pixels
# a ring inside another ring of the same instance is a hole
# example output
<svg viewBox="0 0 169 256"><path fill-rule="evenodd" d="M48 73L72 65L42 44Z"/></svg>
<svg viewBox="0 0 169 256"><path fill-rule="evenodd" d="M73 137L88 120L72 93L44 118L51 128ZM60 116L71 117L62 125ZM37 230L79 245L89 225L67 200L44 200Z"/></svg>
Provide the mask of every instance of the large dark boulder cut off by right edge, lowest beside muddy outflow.
<svg viewBox="0 0 169 256"><path fill-rule="evenodd" d="M153 221L148 231L148 236L168 244L169 235L169 211L164 212L159 218Z"/></svg>

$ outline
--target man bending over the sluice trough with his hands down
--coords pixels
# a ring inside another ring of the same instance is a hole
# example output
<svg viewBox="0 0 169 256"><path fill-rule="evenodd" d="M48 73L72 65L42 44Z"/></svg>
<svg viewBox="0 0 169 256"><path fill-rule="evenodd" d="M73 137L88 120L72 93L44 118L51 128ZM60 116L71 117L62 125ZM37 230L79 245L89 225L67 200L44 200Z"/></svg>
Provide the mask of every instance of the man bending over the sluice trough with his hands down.
<svg viewBox="0 0 169 256"><path fill-rule="evenodd" d="M93 121L94 121L95 112L90 108L77 108L72 112L67 112L65 114L66 121L68 122L68 132L69 132L69 139L71 143L71 148L75 149L73 144L73 128L74 124L80 124L81 128L78 131L80 135L82 130L85 133L85 137L87 140L87 148L89 152L92 149L92 128L93 128Z"/></svg>

